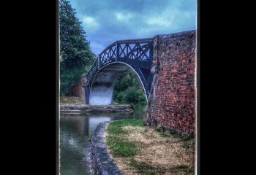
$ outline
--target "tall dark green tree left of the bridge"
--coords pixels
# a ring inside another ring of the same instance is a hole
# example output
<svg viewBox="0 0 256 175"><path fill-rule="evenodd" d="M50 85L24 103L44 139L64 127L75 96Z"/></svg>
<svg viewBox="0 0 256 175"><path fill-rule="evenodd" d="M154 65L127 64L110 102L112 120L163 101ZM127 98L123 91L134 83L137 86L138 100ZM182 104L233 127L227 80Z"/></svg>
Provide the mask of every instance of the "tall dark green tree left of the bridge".
<svg viewBox="0 0 256 175"><path fill-rule="evenodd" d="M75 14L69 1L59 1L61 94L67 93L71 85L78 82L96 58L86 40L82 22Z"/></svg>

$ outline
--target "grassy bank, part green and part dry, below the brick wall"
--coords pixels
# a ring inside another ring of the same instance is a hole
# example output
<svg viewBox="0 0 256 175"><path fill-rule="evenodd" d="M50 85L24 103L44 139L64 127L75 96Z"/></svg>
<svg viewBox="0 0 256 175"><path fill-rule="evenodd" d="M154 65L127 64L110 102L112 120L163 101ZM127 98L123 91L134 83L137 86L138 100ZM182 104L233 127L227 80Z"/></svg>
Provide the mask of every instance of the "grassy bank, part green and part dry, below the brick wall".
<svg viewBox="0 0 256 175"><path fill-rule="evenodd" d="M148 128L142 120L117 120L105 139L124 174L194 174L195 138L165 128Z"/></svg>

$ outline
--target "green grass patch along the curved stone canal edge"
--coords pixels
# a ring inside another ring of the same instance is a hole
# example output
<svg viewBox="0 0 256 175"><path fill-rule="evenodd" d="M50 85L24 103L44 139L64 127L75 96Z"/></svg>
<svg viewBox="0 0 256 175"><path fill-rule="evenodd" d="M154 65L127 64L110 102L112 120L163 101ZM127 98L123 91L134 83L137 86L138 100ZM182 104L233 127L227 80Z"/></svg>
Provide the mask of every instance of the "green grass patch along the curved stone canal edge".
<svg viewBox="0 0 256 175"><path fill-rule="evenodd" d="M106 141L114 156L127 158L136 155L138 149L135 142L124 141L124 136L128 133L121 127L125 125L143 126L143 120L116 120L111 122L107 128Z"/></svg>

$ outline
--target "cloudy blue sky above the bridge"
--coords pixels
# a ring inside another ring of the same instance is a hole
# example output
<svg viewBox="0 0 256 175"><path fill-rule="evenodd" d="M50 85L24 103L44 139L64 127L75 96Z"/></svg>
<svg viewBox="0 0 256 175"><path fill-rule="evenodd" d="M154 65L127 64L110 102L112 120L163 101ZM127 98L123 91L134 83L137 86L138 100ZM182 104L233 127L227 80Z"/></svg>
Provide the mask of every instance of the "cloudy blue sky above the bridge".
<svg viewBox="0 0 256 175"><path fill-rule="evenodd" d="M197 28L197 0L69 0L95 54L121 39Z"/></svg>

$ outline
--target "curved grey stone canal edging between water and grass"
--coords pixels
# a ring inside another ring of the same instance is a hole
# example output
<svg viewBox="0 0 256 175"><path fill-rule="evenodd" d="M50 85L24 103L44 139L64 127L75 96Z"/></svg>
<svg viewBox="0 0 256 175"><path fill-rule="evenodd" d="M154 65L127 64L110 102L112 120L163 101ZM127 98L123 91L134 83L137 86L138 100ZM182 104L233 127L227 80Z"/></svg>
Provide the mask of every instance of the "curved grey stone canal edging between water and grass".
<svg viewBox="0 0 256 175"><path fill-rule="evenodd" d="M109 122L99 123L89 146L89 174L90 175L123 175L114 163L113 158L108 154L108 149L104 141L104 133Z"/></svg>

